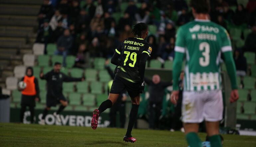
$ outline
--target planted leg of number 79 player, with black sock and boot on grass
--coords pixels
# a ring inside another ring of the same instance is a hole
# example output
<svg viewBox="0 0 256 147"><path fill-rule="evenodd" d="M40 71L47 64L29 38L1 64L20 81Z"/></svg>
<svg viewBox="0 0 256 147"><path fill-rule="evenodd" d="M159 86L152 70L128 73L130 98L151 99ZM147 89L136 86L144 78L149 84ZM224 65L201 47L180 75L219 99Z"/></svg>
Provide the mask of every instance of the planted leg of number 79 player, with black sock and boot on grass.
<svg viewBox="0 0 256 147"><path fill-rule="evenodd" d="M128 123L127 132L126 132L126 135L124 136L123 140L125 142L134 143L136 141L136 139L132 137L131 132L132 132L133 125L136 121L139 106L140 106L140 94L137 97L132 98L131 100L132 100L132 109L130 112L130 119L129 119L129 123Z"/></svg>

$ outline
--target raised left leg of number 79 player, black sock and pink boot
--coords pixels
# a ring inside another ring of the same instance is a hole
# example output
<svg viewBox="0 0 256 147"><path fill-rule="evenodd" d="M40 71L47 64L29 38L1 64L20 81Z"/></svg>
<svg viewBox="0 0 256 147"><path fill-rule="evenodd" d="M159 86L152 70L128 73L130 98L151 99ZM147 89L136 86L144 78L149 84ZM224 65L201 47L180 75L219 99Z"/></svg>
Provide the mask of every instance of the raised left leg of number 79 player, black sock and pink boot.
<svg viewBox="0 0 256 147"><path fill-rule="evenodd" d="M111 108L112 105L116 102L118 99L119 94L109 94L108 99L104 102L102 102L98 109L93 110L92 113L92 119L91 119L91 127L92 129L96 129L98 126L98 119L99 114L103 111L105 111L108 108Z"/></svg>

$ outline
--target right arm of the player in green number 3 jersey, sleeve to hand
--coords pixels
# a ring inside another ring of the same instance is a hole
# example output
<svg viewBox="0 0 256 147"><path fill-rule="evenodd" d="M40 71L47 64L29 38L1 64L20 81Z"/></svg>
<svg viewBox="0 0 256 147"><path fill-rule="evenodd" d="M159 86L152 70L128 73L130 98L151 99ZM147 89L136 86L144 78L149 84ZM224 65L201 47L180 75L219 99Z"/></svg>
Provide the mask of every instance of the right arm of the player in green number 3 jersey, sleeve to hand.
<svg viewBox="0 0 256 147"><path fill-rule="evenodd" d="M231 81L231 97L230 97L230 102L233 103L236 100L238 100L239 95L238 95L238 87L236 83L236 67L235 67L235 62L232 56L232 47L231 47L231 42L229 35L225 29L223 29L223 33L221 34L221 52L224 57L224 61L227 67L227 73Z"/></svg>

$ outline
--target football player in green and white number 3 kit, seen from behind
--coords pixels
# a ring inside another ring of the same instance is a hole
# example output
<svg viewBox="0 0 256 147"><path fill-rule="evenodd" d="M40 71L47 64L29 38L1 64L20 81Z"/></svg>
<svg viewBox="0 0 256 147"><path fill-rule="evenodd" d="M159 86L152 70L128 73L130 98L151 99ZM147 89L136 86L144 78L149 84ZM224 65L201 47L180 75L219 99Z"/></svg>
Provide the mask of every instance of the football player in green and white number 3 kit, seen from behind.
<svg viewBox="0 0 256 147"><path fill-rule="evenodd" d="M179 75L186 55L182 121L191 147L201 147L199 123L206 121L211 147L221 147L219 121L222 119L220 56L224 57L231 81L230 102L238 100L236 69L227 31L209 20L209 1L191 0L195 20L181 26L175 44L172 103L179 98Z"/></svg>

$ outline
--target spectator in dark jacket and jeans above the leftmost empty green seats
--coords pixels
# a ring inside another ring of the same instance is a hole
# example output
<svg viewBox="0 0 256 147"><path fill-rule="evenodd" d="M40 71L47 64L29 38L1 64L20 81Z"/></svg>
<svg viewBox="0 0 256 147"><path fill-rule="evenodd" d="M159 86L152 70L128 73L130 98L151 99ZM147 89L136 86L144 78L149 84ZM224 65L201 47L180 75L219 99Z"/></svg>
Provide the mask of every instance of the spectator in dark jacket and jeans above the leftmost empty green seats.
<svg viewBox="0 0 256 147"><path fill-rule="evenodd" d="M66 56L72 52L73 37L70 35L68 29L64 31L63 36L61 36L57 41L56 55L63 55L63 66L66 66Z"/></svg>

